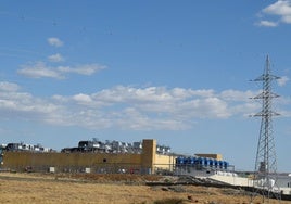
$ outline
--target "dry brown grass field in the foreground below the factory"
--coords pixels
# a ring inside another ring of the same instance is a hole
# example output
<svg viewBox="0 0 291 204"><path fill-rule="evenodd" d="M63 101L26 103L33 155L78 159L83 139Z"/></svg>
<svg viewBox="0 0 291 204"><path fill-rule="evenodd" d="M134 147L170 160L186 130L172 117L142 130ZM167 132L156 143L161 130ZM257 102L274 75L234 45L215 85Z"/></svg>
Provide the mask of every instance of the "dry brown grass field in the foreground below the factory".
<svg viewBox="0 0 291 204"><path fill-rule="evenodd" d="M194 186L149 187L175 179L136 175L39 175L0 173L0 203L249 204L245 192ZM258 200L260 199L260 200ZM253 202L262 203L261 197ZM269 200L267 203L279 203ZM291 204L280 201L280 204Z"/></svg>

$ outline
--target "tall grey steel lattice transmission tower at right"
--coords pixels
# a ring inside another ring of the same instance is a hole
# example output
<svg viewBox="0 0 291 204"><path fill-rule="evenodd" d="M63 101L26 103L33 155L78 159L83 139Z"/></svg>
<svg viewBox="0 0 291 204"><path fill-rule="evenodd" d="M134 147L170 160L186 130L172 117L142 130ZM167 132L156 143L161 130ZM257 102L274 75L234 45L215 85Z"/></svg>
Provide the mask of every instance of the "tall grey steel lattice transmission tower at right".
<svg viewBox="0 0 291 204"><path fill-rule="evenodd" d="M273 111L273 99L279 95L271 92L271 82L279 78L271 75L269 56L267 55L263 75L254 79L254 81L263 82L263 91L254 98L261 100L262 111L253 115L261 117L261 129L253 180L255 193L252 200L261 194L263 203L268 202L269 199L281 200L280 189L277 184L277 157L273 129L273 116L279 115Z"/></svg>

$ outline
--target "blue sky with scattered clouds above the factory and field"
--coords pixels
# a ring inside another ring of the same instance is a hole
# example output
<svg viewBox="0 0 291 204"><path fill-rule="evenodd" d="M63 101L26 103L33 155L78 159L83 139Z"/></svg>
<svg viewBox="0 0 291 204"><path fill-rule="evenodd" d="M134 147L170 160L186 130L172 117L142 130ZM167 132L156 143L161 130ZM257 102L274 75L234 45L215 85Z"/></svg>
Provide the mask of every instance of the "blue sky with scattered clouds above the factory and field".
<svg viewBox="0 0 291 204"><path fill-rule="evenodd" d="M0 0L0 143L156 139L253 170L269 55L291 171L290 0Z"/></svg>

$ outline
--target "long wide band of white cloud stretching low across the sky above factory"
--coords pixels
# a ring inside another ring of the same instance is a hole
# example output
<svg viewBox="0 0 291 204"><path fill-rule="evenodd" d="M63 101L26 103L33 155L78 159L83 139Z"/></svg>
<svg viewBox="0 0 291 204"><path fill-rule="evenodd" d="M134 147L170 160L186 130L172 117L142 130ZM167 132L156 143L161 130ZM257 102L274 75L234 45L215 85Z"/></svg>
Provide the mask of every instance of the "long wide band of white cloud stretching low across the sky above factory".
<svg viewBox="0 0 291 204"><path fill-rule="evenodd" d="M249 100L253 91L193 90L165 87L116 86L96 93L52 95L41 99L22 92L15 84L0 82L2 118L38 120L58 126L90 129L179 130L193 127L202 118L227 119L260 111ZM283 100L283 105L290 104Z"/></svg>

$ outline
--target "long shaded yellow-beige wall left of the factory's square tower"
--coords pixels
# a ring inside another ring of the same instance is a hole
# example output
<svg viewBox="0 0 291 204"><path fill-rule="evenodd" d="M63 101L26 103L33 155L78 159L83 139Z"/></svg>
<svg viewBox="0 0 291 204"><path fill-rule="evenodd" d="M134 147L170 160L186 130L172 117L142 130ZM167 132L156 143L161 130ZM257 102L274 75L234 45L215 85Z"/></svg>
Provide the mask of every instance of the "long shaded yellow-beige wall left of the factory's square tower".
<svg viewBox="0 0 291 204"><path fill-rule="evenodd" d="M141 164L140 154L104 154L104 153L33 153L5 152L3 168L22 169L26 166L46 167L97 167L118 164L130 166Z"/></svg>

